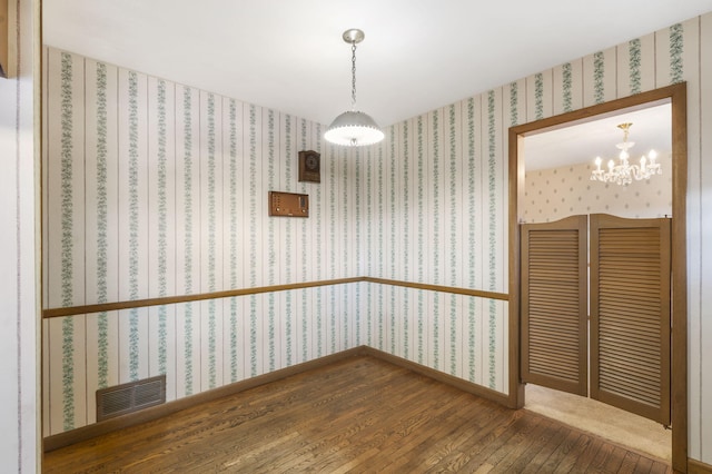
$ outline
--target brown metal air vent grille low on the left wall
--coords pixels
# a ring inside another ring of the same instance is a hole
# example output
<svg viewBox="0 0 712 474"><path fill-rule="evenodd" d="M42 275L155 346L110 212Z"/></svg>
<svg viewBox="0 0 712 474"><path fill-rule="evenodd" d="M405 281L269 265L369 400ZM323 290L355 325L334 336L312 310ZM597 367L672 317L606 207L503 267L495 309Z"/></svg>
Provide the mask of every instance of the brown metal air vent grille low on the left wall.
<svg viewBox="0 0 712 474"><path fill-rule="evenodd" d="M97 422L166 402L166 375L97 391Z"/></svg>

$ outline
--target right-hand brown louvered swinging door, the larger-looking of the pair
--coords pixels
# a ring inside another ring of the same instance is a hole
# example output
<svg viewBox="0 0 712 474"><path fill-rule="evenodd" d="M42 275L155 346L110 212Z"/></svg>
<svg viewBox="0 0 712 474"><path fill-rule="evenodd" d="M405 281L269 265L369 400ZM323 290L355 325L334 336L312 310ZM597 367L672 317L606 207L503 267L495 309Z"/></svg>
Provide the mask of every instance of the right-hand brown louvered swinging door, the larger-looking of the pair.
<svg viewBox="0 0 712 474"><path fill-rule="evenodd" d="M591 216L591 397L670 424L670 219Z"/></svg>

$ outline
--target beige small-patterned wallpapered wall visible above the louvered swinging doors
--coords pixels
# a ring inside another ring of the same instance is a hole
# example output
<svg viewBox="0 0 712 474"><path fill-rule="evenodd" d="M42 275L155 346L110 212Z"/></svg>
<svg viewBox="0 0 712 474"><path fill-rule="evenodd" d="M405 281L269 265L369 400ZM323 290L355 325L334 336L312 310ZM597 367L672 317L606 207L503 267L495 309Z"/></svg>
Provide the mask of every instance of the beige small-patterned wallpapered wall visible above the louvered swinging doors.
<svg viewBox="0 0 712 474"><path fill-rule="evenodd" d="M567 216L612 214L631 219L672 216L672 160L661 156L662 176L627 186L591 180L593 164L535 169L524 177L522 216L526 224Z"/></svg>

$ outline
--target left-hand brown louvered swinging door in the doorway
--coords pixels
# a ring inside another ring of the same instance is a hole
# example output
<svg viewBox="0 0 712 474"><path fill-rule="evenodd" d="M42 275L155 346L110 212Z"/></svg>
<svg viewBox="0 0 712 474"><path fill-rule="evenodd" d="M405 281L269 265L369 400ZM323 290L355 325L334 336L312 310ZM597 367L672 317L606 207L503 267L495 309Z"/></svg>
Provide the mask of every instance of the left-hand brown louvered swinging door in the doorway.
<svg viewBox="0 0 712 474"><path fill-rule="evenodd" d="M587 395L587 217L522 226L522 379Z"/></svg>

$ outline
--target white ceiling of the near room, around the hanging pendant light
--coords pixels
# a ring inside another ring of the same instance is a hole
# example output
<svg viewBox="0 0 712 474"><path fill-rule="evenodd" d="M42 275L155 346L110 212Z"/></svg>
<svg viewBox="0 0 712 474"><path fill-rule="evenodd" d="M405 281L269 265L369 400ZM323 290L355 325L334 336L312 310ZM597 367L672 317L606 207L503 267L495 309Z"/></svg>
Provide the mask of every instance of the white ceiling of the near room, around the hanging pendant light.
<svg viewBox="0 0 712 474"><path fill-rule="evenodd" d="M415 117L712 10L712 0L44 0L44 42L322 124Z"/></svg>

